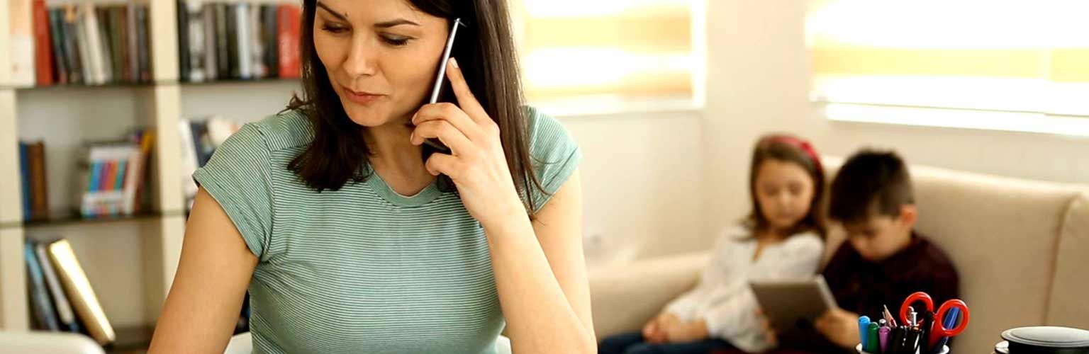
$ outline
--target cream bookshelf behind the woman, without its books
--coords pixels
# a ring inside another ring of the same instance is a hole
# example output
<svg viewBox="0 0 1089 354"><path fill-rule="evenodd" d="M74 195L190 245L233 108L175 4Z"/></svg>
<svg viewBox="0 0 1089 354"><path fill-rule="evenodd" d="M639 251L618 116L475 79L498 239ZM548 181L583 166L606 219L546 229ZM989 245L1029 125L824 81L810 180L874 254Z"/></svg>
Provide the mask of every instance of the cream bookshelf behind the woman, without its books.
<svg viewBox="0 0 1089 354"><path fill-rule="evenodd" d="M10 1L0 0L0 18L5 21ZM66 2L78 1L119 2ZM56 237L72 242L114 328L154 325L173 281L184 236L180 119L221 115L254 121L280 111L298 90L297 80L180 83L175 1L132 2L146 3L150 10L151 83L21 88L12 85L10 69L0 69L0 330L29 329L24 242ZM4 22L0 48L7 51L9 43ZM0 68L11 67L10 60L0 55ZM46 141L49 204L56 208L74 205L79 192L71 176L79 168L81 144L119 138L133 126L155 129L148 174L154 213L57 225L22 222L21 139Z"/></svg>

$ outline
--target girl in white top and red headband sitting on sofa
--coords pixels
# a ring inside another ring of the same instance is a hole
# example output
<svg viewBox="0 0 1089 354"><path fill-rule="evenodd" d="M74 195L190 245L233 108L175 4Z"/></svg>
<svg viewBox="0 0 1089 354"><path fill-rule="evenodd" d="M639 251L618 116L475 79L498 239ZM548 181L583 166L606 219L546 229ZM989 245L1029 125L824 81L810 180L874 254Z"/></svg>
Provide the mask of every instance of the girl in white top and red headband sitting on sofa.
<svg viewBox="0 0 1089 354"><path fill-rule="evenodd" d="M798 138L774 135L754 149L752 213L719 237L699 285L673 300L641 332L611 337L599 353L699 353L735 347L764 352L774 344L757 317L750 279L803 278L823 253L819 155Z"/></svg>

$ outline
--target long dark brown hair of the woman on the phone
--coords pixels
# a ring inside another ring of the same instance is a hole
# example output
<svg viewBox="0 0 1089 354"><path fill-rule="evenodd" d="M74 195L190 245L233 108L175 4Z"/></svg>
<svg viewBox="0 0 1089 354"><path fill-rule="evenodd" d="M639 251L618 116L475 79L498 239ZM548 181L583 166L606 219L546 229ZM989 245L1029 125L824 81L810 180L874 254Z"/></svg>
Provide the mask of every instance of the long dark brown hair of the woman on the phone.
<svg viewBox="0 0 1089 354"><path fill-rule="evenodd" d="M534 193L544 192L534 174L529 139L523 108L522 80L505 0L407 0L417 10L432 16L462 18L468 26L458 29L451 56L465 75L469 89L488 115L500 127L506 164L523 203L533 216ZM303 1L299 54L303 69L303 98L293 97L289 110L303 112L314 126L314 142L296 156L289 168L317 191L338 190L345 184L369 177L370 151L363 129L348 118L333 91L326 67L314 48L314 16L317 0ZM438 58L437 58L438 60ZM451 89L442 101L456 102ZM425 148L424 159L435 151ZM452 186L445 176L440 186Z"/></svg>

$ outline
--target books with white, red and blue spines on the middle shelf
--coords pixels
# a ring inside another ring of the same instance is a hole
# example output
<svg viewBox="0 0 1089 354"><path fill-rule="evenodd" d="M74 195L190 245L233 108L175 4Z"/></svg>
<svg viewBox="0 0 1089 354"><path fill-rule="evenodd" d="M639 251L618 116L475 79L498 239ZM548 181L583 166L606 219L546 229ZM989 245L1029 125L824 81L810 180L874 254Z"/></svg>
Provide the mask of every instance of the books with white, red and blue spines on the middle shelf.
<svg viewBox="0 0 1089 354"><path fill-rule="evenodd" d="M87 149L79 214L83 217L132 215L142 211L155 134L136 129L126 140Z"/></svg>

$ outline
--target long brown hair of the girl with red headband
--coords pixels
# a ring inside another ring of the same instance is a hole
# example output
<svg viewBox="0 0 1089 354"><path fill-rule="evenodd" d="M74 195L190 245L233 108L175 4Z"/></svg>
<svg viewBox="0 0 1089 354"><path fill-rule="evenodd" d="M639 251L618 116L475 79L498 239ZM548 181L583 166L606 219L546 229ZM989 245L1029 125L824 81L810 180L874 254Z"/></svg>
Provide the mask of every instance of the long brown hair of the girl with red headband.
<svg viewBox="0 0 1089 354"><path fill-rule="evenodd" d="M752 163L749 165L749 198L752 201L752 213L746 219L749 226L756 232L766 231L770 227L768 218L761 212L760 200L756 195L757 174L760 172L760 166L768 160L797 164L805 168L813 182L813 199L809 202L809 212L794 228L787 230L787 236L811 231L824 239L827 232L822 212L824 168L821 166L820 155L808 141L790 135L761 137L760 140L757 140L756 147L752 148Z"/></svg>

